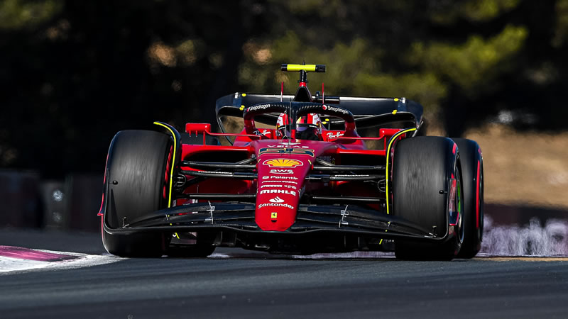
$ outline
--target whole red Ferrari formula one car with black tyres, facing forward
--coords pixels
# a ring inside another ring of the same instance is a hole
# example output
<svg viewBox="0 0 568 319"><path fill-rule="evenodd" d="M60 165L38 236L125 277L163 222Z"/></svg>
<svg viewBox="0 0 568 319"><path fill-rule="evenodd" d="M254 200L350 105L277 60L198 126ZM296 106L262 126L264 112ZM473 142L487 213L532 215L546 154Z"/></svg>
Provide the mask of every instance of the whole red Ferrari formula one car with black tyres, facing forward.
<svg viewBox="0 0 568 319"><path fill-rule="evenodd" d="M405 98L325 96L323 84L312 95L307 72L324 65L282 71L300 73L293 96L282 87L280 95L217 100L222 133L203 123L180 133L160 122L156 131L116 133L99 212L108 252L394 250L400 259L446 260L479 252L476 142L420 136L422 106ZM235 117L244 128L227 133L224 120Z"/></svg>

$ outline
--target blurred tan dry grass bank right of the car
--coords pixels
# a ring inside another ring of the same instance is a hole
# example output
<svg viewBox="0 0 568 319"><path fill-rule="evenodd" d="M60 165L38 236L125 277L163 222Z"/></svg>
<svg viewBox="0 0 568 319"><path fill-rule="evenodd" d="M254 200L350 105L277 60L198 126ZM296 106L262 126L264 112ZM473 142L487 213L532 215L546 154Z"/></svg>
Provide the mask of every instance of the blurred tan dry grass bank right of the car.
<svg viewBox="0 0 568 319"><path fill-rule="evenodd" d="M568 210L568 133L518 133L500 124L471 130L484 155L487 203Z"/></svg>

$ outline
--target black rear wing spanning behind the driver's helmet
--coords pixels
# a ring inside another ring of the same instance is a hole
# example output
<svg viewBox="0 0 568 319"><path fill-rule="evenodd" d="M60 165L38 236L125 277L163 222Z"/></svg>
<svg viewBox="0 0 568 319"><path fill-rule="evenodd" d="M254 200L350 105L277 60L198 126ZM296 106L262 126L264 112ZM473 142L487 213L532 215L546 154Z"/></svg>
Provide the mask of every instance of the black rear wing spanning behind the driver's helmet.
<svg viewBox="0 0 568 319"><path fill-rule="evenodd" d="M357 128L371 128L385 123L403 123L404 128L420 128L422 125L423 108L415 101L405 98L366 98L349 96L325 96L323 98L317 92L312 96L315 103L339 104L353 113ZM243 116L245 108L260 103L271 102L290 102L293 95L271 95L271 94L246 94L236 92L217 99L215 103L215 113L217 113L217 123L219 128L224 131L221 121L222 116ZM256 116L255 121L268 125L275 125L278 113L266 113ZM326 116L322 116L323 119ZM332 120L332 129L342 129L344 121Z"/></svg>

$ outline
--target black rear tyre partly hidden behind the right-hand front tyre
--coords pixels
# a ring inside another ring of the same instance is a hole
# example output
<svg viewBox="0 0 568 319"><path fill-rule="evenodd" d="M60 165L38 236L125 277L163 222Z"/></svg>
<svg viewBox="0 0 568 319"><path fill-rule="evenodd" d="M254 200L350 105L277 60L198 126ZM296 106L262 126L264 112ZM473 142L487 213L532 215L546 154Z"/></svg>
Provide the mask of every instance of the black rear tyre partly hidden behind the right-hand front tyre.
<svg viewBox="0 0 568 319"><path fill-rule="evenodd" d="M484 232L484 161L474 140L454 138L464 181L464 243L457 257L473 258L481 250Z"/></svg>

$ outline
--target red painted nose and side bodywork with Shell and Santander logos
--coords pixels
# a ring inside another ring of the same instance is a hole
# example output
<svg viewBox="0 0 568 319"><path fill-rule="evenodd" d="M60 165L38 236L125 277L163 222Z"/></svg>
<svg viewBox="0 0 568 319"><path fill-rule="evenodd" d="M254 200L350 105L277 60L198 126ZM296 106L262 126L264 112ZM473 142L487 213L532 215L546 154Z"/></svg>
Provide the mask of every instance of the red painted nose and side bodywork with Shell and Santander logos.
<svg viewBox="0 0 568 319"><path fill-rule="evenodd" d="M253 123L251 123L253 125ZM221 136L226 134L211 133L210 124L187 123L187 133L205 133ZM383 128L377 138L361 138L358 135L344 137L344 130L324 130L321 141L314 140L275 140L273 129L263 129L260 135L246 134L243 130L232 146L220 145L182 145L182 160L190 159L200 153L217 153L222 159L226 152L246 152L257 159L256 181L231 179L208 179L201 182L199 189L193 186L187 193L232 193L255 194L255 220L261 230L285 231L295 223L300 198L306 190L320 194L342 194L353 196L381 196L378 192L369 192L360 185L345 181L310 183L305 180L310 174L317 157L329 157L335 164L341 164L341 155L386 156L388 140L401 129ZM401 135L400 138L403 138ZM203 138L204 140L204 138ZM377 140L383 150L367 150L364 140ZM349 184L349 186L348 186ZM178 200L178 205L185 203ZM372 205L371 205L372 206Z"/></svg>

